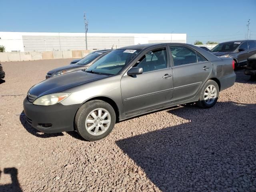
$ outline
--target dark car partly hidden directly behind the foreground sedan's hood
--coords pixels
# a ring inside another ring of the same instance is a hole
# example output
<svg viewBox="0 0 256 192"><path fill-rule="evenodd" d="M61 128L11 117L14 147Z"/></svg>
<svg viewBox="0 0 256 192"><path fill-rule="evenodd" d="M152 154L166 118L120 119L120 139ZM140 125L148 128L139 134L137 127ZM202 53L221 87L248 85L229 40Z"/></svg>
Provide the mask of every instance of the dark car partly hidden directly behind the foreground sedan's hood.
<svg viewBox="0 0 256 192"><path fill-rule="evenodd" d="M104 55L108 54L112 50L103 50L103 51L94 51L90 55L84 57L82 60L78 61L76 64L66 65L62 67L58 67L56 69L50 70L46 74L46 79L54 76L58 76L64 73L78 71L82 69L88 68L91 64L93 64L99 58L102 58Z"/></svg>

